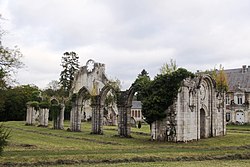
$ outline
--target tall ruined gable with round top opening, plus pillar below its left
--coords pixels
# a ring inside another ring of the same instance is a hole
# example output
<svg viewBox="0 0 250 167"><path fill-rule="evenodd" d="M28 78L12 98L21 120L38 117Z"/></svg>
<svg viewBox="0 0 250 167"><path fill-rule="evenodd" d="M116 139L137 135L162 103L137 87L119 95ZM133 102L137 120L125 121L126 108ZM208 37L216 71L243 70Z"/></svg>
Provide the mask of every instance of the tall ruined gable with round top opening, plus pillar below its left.
<svg viewBox="0 0 250 167"><path fill-rule="evenodd" d="M96 63L93 60L87 61L75 74L71 96L76 94L76 101L73 104L70 117L70 129L81 131L81 121L89 120L92 116L91 99L87 94L97 96L101 89L108 83L105 74L105 65Z"/></svg>

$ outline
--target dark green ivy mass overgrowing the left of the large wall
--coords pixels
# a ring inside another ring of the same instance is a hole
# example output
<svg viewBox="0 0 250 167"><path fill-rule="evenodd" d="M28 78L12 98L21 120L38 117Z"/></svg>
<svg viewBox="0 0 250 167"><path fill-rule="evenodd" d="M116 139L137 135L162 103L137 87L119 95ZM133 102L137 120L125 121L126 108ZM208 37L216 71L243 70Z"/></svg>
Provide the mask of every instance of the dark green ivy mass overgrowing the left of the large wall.
<svg viewBox="0 0 250 167"><path fill-rule="evenodd" d="M193 76L193 73L183 68L159 74L152 81L146 75L138 75L133 86L140 94L142 113L146 122L151 124L165 118L167 108L177 98L183 79Z"/></svg>

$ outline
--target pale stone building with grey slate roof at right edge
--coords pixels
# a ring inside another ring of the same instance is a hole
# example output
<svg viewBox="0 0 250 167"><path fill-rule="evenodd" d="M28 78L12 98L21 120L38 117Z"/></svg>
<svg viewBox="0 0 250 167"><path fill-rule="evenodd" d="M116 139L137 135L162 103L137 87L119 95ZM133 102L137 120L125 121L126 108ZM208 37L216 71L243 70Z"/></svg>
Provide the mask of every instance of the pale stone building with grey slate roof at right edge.
<svg viewBox="0 0 250 167"><path fill-rule="evenodd" d="M226 122L250 123L250 66L224 70L229 90L226 94Z"/></svg>

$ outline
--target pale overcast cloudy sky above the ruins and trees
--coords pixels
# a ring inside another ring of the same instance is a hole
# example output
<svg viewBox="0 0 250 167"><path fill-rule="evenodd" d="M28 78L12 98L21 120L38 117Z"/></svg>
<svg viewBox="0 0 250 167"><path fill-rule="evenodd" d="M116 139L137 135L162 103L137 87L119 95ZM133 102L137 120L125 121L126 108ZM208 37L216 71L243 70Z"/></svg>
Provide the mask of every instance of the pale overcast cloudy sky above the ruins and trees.
<svg viewBox="0 0 250 167"><path fill-rule="evenodd" d="M58 80L65 51L106 64L128 88L174 59L190 71L250 65L249 0L0 0L4 46L18 45L20 84Z"/></svg>

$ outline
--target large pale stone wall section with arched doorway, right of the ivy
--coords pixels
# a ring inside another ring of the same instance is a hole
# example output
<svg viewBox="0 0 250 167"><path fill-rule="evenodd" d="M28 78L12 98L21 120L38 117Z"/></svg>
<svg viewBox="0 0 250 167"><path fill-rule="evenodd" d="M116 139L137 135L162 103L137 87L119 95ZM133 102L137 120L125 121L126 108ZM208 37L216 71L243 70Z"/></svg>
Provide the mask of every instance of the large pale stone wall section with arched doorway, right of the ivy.
<svg viewBox="0 0 250 167"><path fill-rule="evenodd" d="M152 124L151 139L187 142L226 134L224 94L208 75L183 81L167 117Z"/></svg>

